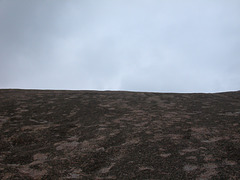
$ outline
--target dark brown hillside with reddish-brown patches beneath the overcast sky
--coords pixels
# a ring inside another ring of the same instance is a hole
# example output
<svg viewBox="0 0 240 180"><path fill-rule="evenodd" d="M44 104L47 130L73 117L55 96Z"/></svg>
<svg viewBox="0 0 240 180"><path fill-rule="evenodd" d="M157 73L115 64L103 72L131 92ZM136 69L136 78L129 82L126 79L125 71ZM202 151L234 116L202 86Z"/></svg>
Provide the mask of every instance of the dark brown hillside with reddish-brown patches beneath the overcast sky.
<svg viewBox="0 0 240 180"><path fill-rule="evenodd" d="M0 179L240 179L240 92L0 90Z"/></svg>

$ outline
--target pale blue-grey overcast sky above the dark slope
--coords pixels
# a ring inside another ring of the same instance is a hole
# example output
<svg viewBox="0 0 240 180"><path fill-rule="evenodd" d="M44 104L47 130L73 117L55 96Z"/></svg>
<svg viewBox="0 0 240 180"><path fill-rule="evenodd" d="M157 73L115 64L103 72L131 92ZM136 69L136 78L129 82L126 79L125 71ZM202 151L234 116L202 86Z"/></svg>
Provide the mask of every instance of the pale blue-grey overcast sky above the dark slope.
<svg viewBox="0 0 240 180"><path fill-rule="evenodd" d="M240 90L240 1L0 0L0 88Z"/></svg>

